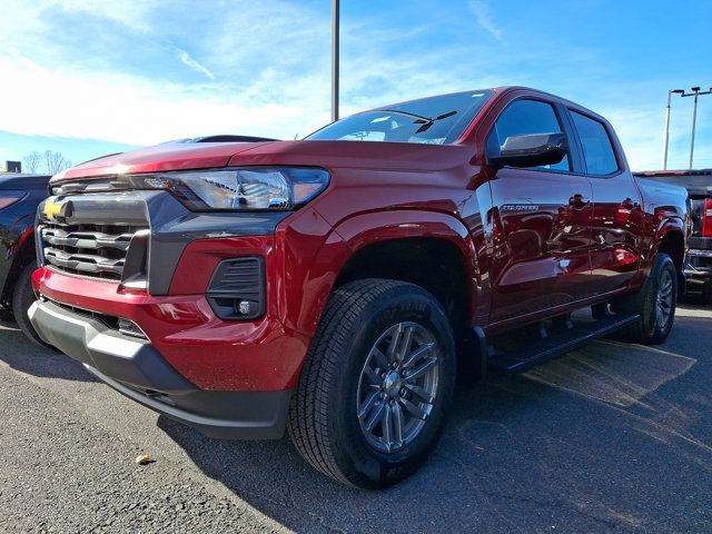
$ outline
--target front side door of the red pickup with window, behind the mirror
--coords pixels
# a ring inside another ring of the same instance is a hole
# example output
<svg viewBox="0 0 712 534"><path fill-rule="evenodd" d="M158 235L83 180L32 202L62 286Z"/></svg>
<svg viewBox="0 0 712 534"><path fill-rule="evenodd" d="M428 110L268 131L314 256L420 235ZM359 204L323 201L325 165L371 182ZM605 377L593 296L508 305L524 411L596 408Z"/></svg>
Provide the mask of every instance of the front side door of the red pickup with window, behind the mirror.
<svg viewBox="0 0 712 534"><path fill-rule="evenodd" d="M541 96L515 98L491 127L487 154L497 154L510 136L564 132L570 137L564 112ZM576 146L572 139L568 145ZM570 149L556 165L502 168L490 187L501 233L491 323L551 313L587 296L592 189L576 151Z"/></svg>

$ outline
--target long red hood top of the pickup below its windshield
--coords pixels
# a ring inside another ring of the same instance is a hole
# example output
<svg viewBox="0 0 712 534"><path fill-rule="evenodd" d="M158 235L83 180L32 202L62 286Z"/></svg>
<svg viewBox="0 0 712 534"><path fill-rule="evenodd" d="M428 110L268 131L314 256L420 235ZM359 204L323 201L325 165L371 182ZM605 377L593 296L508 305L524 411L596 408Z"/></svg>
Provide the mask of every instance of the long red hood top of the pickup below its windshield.
<svg viewBox="0 0 712 534"><path fill-rule="evenodd" d="M87 161L55 176L52 182L249 165L434 171L462 165L468 152L458 145L412 142L306 140L158 145Z"/></svg>

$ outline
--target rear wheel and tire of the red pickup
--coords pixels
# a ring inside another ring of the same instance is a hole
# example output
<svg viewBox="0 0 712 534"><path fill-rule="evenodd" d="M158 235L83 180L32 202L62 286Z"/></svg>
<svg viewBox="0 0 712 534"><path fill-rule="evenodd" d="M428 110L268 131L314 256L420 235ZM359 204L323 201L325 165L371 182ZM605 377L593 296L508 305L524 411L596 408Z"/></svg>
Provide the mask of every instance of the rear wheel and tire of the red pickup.
<svg viewBox="0 0 712 534"><path fill-rule="evenodd" d="M666 304L666 306L661 305ZM613 303L616 313L637 314L640 319L627 329L627 337L644 345L663 343L675 320L678 271L670 256L657 254L641 291ZM661 307L662 306L662 307Z"/></svg>

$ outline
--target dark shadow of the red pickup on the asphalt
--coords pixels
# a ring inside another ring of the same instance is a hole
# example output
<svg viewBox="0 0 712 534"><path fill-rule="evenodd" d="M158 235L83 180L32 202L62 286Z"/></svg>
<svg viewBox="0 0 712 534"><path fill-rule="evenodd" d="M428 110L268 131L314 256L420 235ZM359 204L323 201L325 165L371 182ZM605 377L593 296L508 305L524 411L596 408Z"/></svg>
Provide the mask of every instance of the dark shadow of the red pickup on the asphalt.
<svg viewBox="0 0 712 534"><path fill-rule="evenodd" d="M166 417L158 426L207 476L298 532L635 531L682 513L676 492L705 498L698 476L712 473L712 448L694 433L712 394L688 406L659 389L709 372L664 348L597 342L526 375L461 385L423 468L382 492L319 475L287 438L209 439ZM698 475L661 485L671 466Z"/></svg>

